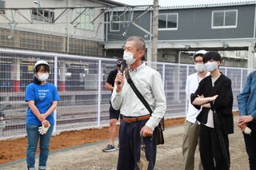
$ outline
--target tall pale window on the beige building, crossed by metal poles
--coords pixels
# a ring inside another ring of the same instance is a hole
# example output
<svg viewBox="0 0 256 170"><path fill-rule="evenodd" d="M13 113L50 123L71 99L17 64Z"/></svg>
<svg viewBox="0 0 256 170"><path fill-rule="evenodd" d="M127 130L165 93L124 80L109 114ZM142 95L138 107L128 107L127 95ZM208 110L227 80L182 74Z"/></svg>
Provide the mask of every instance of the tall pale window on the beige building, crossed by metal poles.
<svg viewBox="0 0 256 170"><path fill-rule="evenodd" d="M77 9L77 17L86 9L85 6L77 5L77 7L82 7ZM76 22L79 22L77 28L82 30L94 30L94 24L90 23L94 20L94 9L86 9L86 13L82 14Z"/></svg>

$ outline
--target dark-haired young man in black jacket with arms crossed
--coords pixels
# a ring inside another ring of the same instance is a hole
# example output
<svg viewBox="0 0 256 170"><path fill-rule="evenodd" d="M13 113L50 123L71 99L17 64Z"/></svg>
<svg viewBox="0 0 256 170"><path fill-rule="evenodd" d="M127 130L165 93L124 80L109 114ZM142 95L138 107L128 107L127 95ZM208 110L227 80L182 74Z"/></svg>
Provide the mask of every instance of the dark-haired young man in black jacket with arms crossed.
<svg viewBox="0 0 256 170"><path fill-rule="evenodd" d="M202 105L202 111L198 114L197 120L201 123L200 156L202 166L207 170L226 170L226 160L222 153L218 131L214 127L214 106L222 125L222 136L230 164L228 134L234 132L233 93L230 78L218 70L221 61L222 57L217 52L208 52L203 56L203 63L206 70L210 72L210 76L204 78L196 92L191 94L191 103L194 107L200 109Z"/></svg>

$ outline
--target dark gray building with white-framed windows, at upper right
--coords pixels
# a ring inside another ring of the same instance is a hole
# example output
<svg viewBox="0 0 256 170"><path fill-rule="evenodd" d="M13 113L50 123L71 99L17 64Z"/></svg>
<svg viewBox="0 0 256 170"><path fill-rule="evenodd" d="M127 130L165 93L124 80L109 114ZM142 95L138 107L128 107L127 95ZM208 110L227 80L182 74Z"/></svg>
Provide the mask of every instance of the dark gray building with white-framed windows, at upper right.
<svg viewBox="0 0 256 170"><path fill-rule="evenodd" d="M221 53L226 66L254 67L255 3L161 6L158 14L158 61L191 63L194 51L206 49ZM106 22L111 16L117 21L105 29L106 55L122 56L126 38L134 35L145 38L146 55L151 55L151 35L148 32L152 29L153 10L146 12L146 9L138 7L134 14L129 11L118 20L114 18L125 8L106 14ZM142 14L143 11L146 13ZM142 16L133 21L139 14Z"/></svg>

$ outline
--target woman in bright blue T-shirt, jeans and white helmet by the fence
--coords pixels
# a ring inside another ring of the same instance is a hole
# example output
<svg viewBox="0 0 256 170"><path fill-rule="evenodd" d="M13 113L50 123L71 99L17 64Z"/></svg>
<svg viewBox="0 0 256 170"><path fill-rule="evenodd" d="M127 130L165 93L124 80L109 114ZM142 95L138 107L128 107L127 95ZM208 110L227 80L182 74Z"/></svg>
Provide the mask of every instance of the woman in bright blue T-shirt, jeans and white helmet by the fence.
<svg viewBox="0 0 256 170"><path fill-rule="evenodd" d="M46 80L50 66L46 61L38 61L34 65L34 80L26 87L26 101L29 104L26 113L26 133L28 146L26 164L34 170L35 152L40 138L39 170L46 169L49 154L50 137L54 126L54 109L60 98L54 85Z"/></svg>

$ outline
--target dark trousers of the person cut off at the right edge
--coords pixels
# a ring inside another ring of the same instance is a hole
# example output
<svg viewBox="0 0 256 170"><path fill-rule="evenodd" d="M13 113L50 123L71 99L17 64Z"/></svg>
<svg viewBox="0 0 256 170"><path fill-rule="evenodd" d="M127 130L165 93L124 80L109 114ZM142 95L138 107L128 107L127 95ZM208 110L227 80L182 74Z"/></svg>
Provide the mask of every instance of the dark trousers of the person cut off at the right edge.
<svg viewBox="0 0 256 170"><path fill-rule="evenodd" d="M248 123L248 128L252 130L250 135L242 132L246 143L246 152L249 156L250 170L256 170L256 124Z"/></svg>

